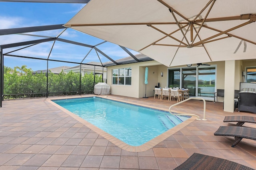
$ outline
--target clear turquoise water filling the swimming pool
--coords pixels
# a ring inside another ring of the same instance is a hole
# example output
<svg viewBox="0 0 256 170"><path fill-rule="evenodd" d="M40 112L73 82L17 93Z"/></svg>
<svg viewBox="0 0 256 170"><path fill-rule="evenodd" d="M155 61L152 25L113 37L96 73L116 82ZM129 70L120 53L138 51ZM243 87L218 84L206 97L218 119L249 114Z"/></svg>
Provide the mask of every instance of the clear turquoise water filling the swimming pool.
<svg viewBox="0 0 256 170"><path fill-rule="evenodd" d="M98 97L52 101L132 146L143 145L189 118Z"/></svg>

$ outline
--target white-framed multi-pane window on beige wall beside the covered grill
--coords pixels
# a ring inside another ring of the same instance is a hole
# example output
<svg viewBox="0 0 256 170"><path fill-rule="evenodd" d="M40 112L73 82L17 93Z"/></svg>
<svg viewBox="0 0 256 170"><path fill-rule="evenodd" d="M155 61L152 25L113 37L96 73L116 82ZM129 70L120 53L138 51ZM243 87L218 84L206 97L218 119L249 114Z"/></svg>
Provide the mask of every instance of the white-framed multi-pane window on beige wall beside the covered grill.
<svg viewBox="0 0 256 170"><path fill-rule="evenodd" d="M113 69L112 84L132 85L132 68Z"/></svg>

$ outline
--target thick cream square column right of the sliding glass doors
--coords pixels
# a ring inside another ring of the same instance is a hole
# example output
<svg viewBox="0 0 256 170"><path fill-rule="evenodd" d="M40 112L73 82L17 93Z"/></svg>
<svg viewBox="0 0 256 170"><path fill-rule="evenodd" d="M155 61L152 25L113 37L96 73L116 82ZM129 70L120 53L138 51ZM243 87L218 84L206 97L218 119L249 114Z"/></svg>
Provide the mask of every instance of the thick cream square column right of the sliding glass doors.
<svg viewBox="0 0 256 170"><path fill-rule="evenodd" d="M224 111L234 112L236 61L225 61Z"/></svg>

